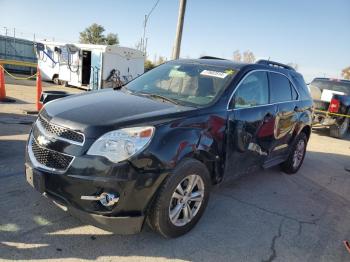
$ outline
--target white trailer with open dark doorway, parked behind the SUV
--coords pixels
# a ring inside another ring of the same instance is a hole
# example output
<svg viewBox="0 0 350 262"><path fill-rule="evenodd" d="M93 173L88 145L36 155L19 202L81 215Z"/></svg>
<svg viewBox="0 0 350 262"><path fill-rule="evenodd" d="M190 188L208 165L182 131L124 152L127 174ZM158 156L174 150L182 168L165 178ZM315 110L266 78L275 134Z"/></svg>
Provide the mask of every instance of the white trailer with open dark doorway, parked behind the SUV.
<svg viewBox="0 0 350 262"><path fill-rule="evenodd" d="M115 87L143 74L144 54L116 45L36 44L44 80L85 89Z"/></svg>

